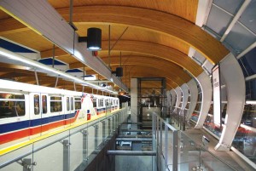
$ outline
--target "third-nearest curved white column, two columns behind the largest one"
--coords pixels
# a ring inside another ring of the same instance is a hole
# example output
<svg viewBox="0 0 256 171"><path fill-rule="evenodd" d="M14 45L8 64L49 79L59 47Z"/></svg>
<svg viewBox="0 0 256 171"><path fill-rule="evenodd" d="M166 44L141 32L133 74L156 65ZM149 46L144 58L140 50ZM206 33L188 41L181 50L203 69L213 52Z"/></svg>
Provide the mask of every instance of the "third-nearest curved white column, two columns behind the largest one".
<svg viewBox="0 0 256 171"><path fill-rule="evenodd" d="M192 116L193 111L195 110L195 105L197 103L197 98L198 98L198 89L194 79L191 79L187 84L190 90L190 105L189 105L189 111L187 113L186 119L189 120L190 117Z"/></svg>

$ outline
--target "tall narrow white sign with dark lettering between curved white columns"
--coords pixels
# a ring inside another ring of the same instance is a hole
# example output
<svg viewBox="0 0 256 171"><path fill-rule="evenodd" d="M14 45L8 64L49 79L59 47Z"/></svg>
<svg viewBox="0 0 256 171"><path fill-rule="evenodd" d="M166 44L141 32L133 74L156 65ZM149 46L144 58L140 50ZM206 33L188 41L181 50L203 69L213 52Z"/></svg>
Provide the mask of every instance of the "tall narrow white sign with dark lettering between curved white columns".
<svg viewBox="0 0 256 171"><path fill-rule="evenodd" d="M212 88L213 88L213 123L221 126L221 84L220 84L219 65L212 68Z"/></svg>

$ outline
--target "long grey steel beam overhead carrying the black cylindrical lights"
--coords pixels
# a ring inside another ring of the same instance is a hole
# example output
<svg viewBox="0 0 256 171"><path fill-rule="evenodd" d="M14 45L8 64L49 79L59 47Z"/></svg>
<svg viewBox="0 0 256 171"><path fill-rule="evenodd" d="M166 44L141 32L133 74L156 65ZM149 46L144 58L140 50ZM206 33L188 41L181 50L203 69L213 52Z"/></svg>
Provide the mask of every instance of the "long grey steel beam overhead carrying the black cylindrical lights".
<svg viewBox="0 0 256 171"><path fill-rule="evenodd" d="M125 84L118 77L113 76L108 66L85 49L86 43L79 43L79 35L47 1L3 0L0 1L0 7L39 35L55 43L55 45L65 50L68 54L72 54L84 65L89 66L103 77L113 81L119 88L128 91Z"/></svg>

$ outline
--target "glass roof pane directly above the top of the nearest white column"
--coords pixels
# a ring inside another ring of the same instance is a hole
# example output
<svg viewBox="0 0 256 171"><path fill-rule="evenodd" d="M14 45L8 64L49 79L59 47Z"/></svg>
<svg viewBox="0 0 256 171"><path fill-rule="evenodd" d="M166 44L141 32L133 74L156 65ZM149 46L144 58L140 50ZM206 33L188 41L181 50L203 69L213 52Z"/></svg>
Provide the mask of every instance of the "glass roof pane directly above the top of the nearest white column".
<svg viewBox="0 0 256 171"><path fill-rule="evenodd" d="M247 31L244 26L241 26L241 24L237 22L224 40L224 42L228 43L231 48L235 49L237 54L240 54L255 41L256 37L253 33Z"/></svg>

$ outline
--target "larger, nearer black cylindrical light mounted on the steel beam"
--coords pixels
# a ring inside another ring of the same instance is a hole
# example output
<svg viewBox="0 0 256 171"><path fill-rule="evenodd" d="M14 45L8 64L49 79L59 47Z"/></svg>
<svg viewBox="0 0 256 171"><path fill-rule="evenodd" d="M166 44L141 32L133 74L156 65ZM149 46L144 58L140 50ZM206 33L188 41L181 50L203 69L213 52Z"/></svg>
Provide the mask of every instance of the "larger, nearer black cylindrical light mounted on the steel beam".
<svg viewBox="0 0 256 171"><path fill-rule="evenodd" d="M102 49L102 30L89 28L87 30L87 50L97 51Z"/></svg>

